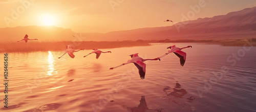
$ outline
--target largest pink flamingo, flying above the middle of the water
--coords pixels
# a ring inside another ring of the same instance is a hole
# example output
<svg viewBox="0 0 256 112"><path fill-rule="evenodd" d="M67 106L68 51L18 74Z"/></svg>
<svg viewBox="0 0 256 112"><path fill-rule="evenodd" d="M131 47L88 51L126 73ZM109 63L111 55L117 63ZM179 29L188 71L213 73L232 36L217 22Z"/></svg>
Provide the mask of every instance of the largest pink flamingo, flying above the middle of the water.
<svg viewBox="0 0 256 112"><path fill-rule="evenodd" d="M138 70L139 70L140 79L144 79L145 78L145 72L146 72L146 64L143 63L143 61L147 61L147 60L159 60L160 61L160 58L143 59L143 58L138 56L138 53L132 54L130 56L132 57L131 60L128 60L126 63L122 63L121 65L118 65L114 68L110 68L110 70L116 69L116 68L118 68L122 65L125 65L125 64L134 63L136 65L136 67L138 68Z"/></svg>

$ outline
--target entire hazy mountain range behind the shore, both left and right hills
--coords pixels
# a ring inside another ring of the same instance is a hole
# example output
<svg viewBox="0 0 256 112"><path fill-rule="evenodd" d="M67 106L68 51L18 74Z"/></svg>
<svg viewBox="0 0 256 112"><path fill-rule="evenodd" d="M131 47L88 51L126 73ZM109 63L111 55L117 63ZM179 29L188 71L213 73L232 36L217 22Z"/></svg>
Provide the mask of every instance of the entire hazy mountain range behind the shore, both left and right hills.
<svg viewBox="0 0 256 112"><path fill-rule="evenodd" d="M173 23L168 23L173 24ZM28 26L1 28L1 41L16 41L25 33L44 40L74 40L71 29L54 26ZM80 34L77 33L79 36ZM226 15L198 18L175 23L167 27L140 28L133 30L113 31L108 33L82 33L85 41L117 41L117 40L158 40L158 39L226 39L251 38L256 35L256 7L230 12ZM8 37L8 38L7 38ZM31 38L33 38L31 37ZM30 37L29 37L30 38Z"/></svg>

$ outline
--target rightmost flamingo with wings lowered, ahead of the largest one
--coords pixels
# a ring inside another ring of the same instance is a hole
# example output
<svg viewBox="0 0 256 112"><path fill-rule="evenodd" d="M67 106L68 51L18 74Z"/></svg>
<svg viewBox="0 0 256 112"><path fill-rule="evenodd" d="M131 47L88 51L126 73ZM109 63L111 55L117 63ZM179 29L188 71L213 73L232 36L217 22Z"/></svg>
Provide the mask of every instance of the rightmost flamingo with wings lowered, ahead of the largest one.
<svg viewBox="0 0 256 112"><path fill-rule="evenodd" d="M170 46L170 47L167 48L167 49L170 49L168 51L168 53L165 53L163 56L161 56L159 58L162 58L162 57L166 56L167 54L173 52L174 54L176 54L180 58L180 65L183 66L185 61L186 61L186 53L181 51L181 50L185 49L185 48L190 48L190 47L192 48L192 46L187 46L187 47L184 47L184 48L178 48L175 45L174 46Z"/></svg>

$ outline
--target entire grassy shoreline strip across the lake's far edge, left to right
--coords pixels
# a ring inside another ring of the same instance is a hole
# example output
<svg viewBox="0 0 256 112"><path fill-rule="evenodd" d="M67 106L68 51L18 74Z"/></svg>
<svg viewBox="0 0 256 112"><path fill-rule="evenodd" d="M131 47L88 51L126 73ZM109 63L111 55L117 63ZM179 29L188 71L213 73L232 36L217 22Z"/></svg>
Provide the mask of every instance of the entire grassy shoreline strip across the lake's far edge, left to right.
<svg viewBox="0 0 256 112"><path fill-rule="evenodd" d="M66 45L73 49L111 49L121 47L151 46L150 43L207 43L222 46L256 46L256 38L247 39L179 39L179 40L136 40L136 41L59 41L59 42L0 42L0 52L65 51Z"/></svg>

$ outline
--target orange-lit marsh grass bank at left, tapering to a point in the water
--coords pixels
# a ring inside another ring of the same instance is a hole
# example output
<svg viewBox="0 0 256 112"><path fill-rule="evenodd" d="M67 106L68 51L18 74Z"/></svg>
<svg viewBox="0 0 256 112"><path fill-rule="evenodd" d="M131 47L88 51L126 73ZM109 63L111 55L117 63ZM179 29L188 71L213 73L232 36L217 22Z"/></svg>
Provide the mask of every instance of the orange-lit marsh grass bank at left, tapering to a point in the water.
<svg viewBox="0 0 256 112"><path fill-rule="evenodd" d="M60 41L60 42L2 42L0 52L34 52L34 51L63 51L66 45L73 49L108 49L120 47L151 46L147 42L137 41Z"/></svg>

